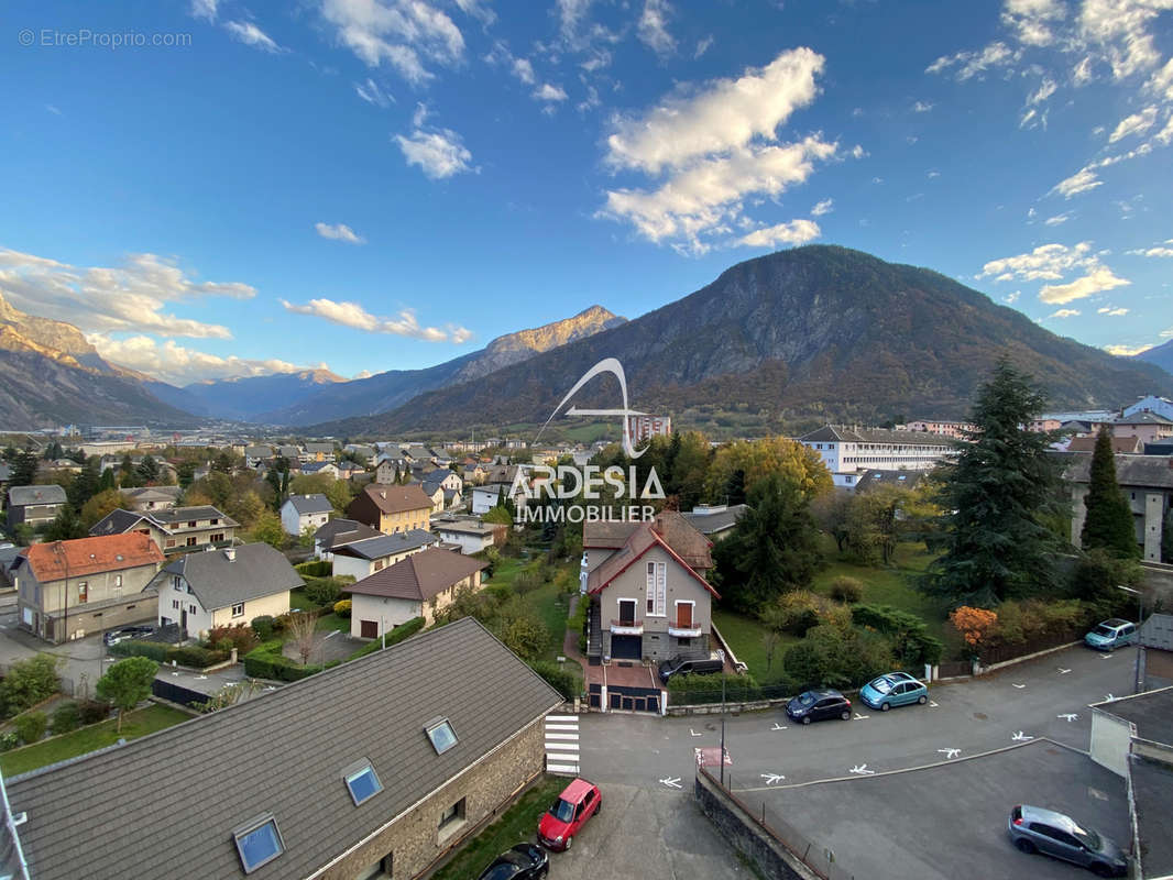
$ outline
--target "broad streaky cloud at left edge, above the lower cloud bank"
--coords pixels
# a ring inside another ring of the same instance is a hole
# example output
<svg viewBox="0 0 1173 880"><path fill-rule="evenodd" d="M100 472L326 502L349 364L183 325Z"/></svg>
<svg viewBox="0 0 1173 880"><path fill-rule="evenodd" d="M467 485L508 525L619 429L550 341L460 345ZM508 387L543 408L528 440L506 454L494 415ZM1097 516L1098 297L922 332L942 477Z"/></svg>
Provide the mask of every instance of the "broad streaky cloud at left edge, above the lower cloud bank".
<svg viewBox="0 0 1173 880"><path fill-rule="evenodd" d="M179 318L169 303L230 297L251 299L248 284L196 282L154 253L131 253L123 265L75 266L0 249L0 292L16 309L68 321L86 332L134 332L231 339L219 324Z"/></svg>

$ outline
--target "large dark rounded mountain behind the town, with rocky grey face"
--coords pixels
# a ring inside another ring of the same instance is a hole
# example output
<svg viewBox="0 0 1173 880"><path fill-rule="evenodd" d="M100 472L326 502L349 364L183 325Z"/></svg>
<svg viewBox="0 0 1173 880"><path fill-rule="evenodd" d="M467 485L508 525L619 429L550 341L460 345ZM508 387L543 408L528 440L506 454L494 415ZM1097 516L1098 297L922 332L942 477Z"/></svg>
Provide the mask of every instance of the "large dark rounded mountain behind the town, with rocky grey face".
<svg viewBox="0 0 1173 880"><path fill-rule="evenodd" d="M354 436L542 422L606 357L622 361L639 409L712 405L872 424L961 418L1003 353L1035 375L1055 408L1173 393L1173 375L1159 367L1058 337L943 275L811 245L740 263L680 300L489 377L310 431ZM619 406L613 380L591 385L575 402Z"/></svg>

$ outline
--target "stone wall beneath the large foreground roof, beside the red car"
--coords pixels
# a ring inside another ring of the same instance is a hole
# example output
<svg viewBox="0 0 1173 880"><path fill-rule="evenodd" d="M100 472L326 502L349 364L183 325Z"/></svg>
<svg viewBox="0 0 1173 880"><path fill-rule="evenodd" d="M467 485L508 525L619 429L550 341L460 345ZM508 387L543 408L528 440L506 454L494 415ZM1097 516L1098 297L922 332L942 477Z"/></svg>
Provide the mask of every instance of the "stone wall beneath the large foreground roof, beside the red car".
<svg viewBox="0 0 1173 880"><path fill-rule="evenodd" d="M538 718L480 764L314 876L321 880L368 876L372 866L388 855L394 860L396 880L425 875L448 852L493 821L516 792L544 770L544 718ZM440 830L441 814L461 799L463 820Z"/></svg>

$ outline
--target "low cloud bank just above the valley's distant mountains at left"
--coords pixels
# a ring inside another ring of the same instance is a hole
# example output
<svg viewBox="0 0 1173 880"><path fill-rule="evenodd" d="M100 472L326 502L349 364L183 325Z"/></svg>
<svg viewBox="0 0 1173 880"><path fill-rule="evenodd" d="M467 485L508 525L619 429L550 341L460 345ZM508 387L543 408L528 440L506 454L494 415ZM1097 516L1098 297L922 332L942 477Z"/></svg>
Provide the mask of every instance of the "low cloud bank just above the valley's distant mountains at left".
<svg viewBox="0 0 1173 880"><path fill-rule="evenodd" d="M93 333L86 338L97 348L97 353L111 364L137 370L172 385L187 385L206 379L330 368L326 364L318 364L317 367L298 366L276 358L252 360L235 354L224 358L177 345L174 339L168 339L161 345L149 336L113 339L103 333Z"/></svg>

